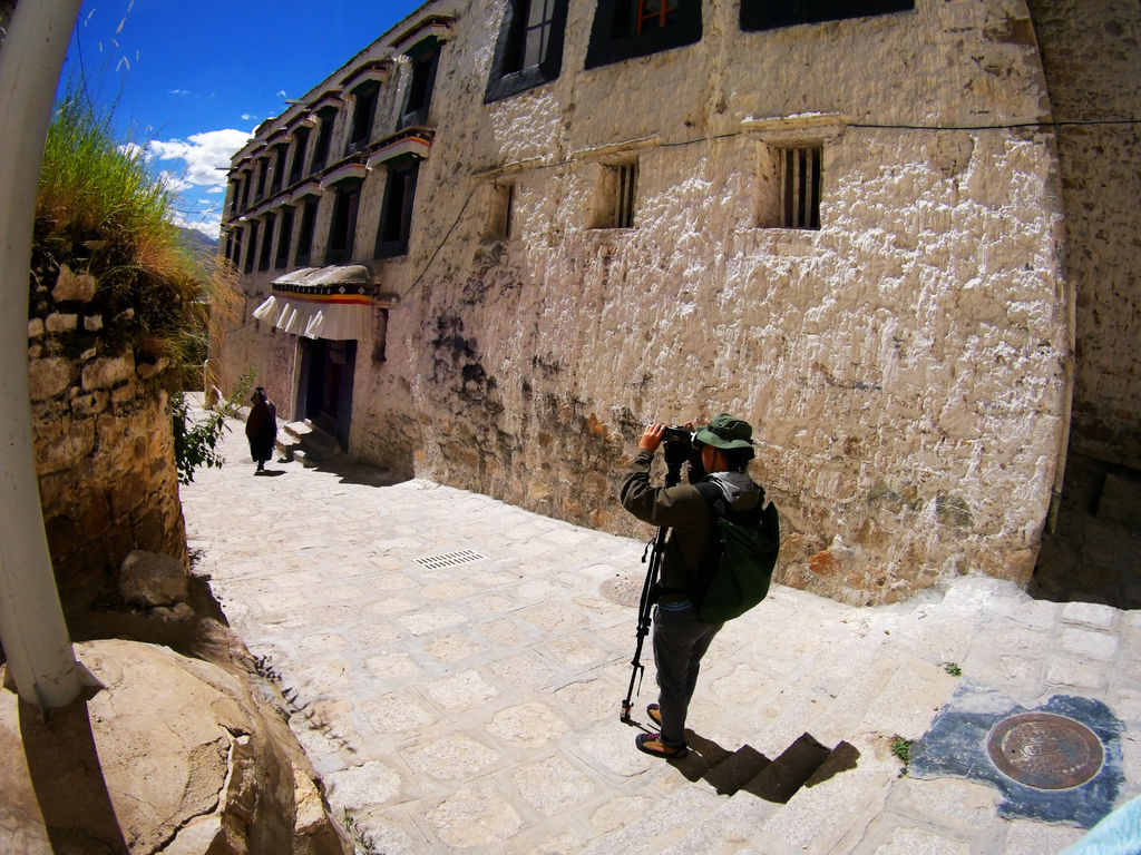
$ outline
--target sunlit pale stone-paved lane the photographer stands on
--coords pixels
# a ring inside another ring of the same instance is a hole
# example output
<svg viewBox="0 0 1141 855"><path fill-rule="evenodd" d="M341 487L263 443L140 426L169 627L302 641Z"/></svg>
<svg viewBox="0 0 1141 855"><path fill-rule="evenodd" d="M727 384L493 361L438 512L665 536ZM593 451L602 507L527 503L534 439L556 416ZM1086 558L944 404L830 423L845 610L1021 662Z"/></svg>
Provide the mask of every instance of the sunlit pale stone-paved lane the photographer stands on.
<svg viewBox="0 0 1141 855"><path fill-rule="evenodd" d="M1141 792L1141 612L984 577L874 609L777 587L715 640L689 718L702 750L674 766L620 722L641 542L365 467L254 477L232 426L226 465L183 488L195 572L277 675L335 814L375 852L1065 848L1082 830L1001 819L989 784L900 776L892 738L922 736L963 681L1027 708L1104 701L1126 727L1117 801ZM426 561L452 553L466 554ZM639 720L648 645L644 660ZM853 746L855 768L787 804L702 776L721 749L772 759L804 733Z"/></svg>

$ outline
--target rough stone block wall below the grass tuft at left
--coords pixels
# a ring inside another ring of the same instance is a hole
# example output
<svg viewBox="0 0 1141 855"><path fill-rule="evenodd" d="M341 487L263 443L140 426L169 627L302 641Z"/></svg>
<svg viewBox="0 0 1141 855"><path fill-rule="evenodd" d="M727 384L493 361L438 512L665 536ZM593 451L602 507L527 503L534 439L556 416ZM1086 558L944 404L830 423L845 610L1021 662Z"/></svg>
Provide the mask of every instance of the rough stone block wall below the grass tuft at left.
<svg viewBox="0 0 1141 855"><path fill-rule="evenodd" d="M89 598L132 549L186 564L161 365L114 344L98 284L49 262L33 270L29 380L40 502L60 595Z"/></svg>

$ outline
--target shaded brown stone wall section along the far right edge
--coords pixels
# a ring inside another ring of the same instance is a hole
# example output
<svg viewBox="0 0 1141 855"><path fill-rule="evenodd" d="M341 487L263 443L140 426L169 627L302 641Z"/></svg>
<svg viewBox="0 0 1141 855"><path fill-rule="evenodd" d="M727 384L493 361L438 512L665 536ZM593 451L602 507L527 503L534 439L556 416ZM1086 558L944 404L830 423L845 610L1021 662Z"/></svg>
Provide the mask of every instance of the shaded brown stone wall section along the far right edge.
<svg viewBox="0 0 1141 855"><path fill-rule="evenodd" d="M1073 448L1141 469L1141 7L1030 0L1076 293Z"/></svg>

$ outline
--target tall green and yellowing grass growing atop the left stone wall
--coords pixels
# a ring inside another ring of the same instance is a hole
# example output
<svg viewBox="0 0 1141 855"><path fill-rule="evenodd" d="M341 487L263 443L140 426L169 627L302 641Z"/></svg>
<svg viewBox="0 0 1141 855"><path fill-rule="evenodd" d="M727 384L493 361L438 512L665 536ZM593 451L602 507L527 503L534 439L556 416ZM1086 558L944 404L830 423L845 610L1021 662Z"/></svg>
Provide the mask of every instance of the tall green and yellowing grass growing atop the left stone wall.
<svg viewBox="0 0 1141 855"><path fill-rule="evenodd" d="M43 153L35 212L37 263L97 279L84 311L100 312L110 349L140 361L170 361L167 385L181 388L205 358L211 275L172 222L173 190L152 174L144 148L119 144L111 114L97 115L70 90L56 105ZM54 309L35 288L31 314Z"/></svg>

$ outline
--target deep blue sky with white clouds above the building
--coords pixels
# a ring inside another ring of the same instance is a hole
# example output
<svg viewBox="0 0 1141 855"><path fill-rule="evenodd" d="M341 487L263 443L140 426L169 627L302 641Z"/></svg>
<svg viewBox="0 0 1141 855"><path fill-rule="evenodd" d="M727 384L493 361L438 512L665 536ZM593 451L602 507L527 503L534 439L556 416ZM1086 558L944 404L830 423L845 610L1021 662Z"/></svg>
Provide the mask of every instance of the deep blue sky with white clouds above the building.
<svg viewBox="0 0 1141 855"><path fill-rule="evenodd" d="M420 0L89 0L60 88L114 105L120 141L147 145L178 189L180 225L218 236L229 156ZM221 166L222 170L217 169Z"/></svg>

